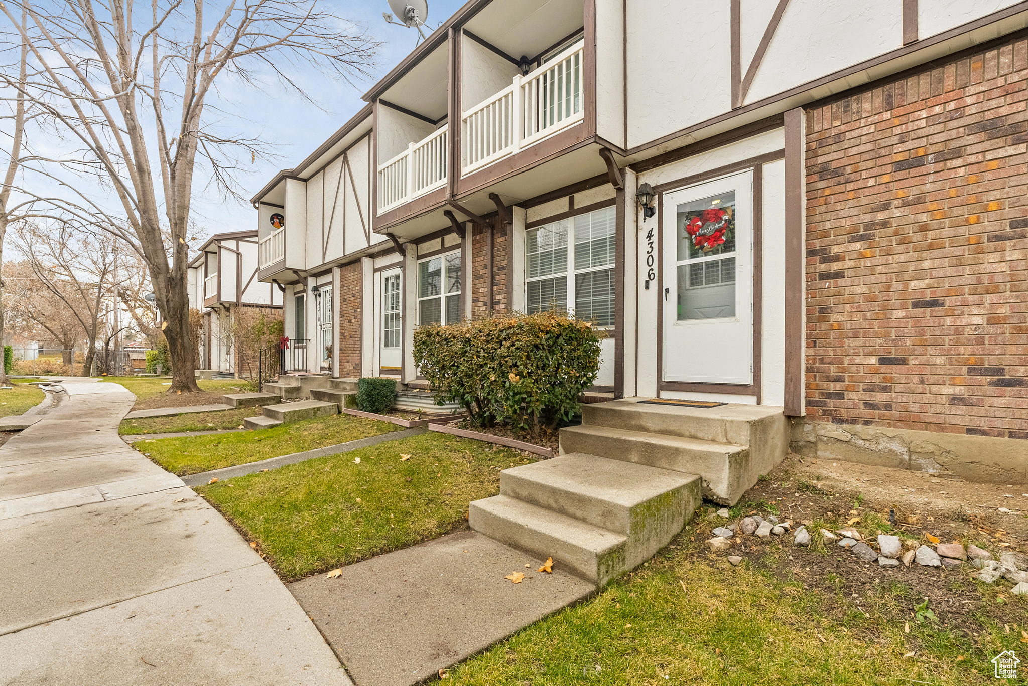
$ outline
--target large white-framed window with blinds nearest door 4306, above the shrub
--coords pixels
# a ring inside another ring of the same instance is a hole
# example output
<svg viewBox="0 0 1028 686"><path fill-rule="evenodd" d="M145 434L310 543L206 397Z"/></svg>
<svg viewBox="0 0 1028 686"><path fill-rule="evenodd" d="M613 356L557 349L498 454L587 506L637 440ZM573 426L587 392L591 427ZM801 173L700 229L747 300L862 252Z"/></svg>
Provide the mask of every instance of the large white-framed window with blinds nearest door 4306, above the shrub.
<svg viewBox="0 0 1028 686"><path fill-rule="evenodd" d="M557 307L597 327L613 327L614 240L614 207L529 229L528 312Z"/></svg>

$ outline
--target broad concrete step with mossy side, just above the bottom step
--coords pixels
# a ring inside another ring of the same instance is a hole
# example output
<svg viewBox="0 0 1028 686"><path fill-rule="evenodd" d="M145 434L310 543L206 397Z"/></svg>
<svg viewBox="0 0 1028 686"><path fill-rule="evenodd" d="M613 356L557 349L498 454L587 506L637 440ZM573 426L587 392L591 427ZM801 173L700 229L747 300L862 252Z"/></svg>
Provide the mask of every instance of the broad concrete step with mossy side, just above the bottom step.
<svg viewBox="0 0 1028 686"><path fill-rule="evenodd" d="M702 499L696 474L580 453L505 469L500 494L630 537L646 532L658 544L639 562L678 533Z"/></svg>

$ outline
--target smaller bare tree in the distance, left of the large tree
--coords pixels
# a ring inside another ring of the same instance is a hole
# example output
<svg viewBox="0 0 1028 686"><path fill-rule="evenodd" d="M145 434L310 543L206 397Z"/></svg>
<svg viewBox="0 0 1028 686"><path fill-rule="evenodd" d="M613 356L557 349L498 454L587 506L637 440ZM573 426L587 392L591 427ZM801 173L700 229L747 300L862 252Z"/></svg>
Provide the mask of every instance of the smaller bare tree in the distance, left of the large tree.
<svg viewBox="0 0 1028 686"><path fill-rule="evenodd" d="M111 294L122 285L115 270L117 239L89 234L71 222L23 222L15 225L15 250L81 328L86 341L82 376L88 376L97 341L109 328Z"/></svg>

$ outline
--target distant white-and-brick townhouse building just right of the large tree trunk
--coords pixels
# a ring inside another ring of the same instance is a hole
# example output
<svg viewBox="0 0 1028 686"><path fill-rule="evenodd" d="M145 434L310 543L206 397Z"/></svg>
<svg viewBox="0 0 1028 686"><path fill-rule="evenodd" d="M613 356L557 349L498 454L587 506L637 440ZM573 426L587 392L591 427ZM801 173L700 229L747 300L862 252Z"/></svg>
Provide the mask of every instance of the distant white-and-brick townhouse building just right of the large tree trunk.
<svg viewBox="0 0 1028 686"><path fill-rule="evenodd" d="M242 323L238 312L281 317L283 291L257 279L257 252L256 230L216 233L189 262L189 307L203 317L197 369L215 374L243 371L236 369L234 340L235 326Z"/></svg>

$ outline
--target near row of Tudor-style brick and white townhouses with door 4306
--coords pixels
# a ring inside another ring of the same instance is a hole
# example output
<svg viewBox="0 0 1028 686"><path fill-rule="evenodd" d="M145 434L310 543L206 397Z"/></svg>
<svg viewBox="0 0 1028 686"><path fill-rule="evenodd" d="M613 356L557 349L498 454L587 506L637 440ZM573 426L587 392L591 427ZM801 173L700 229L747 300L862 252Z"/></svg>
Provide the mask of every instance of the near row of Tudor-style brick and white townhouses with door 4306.
<svg viewBox="0 0 1028 686"><path fill-rule="evenodd" d="M1026 25L1009 0L471 0L253 197L255 281L317 351L297 373L417 385L417 326L557 305L608 334L607 397L1024 481Z"/></svg>

